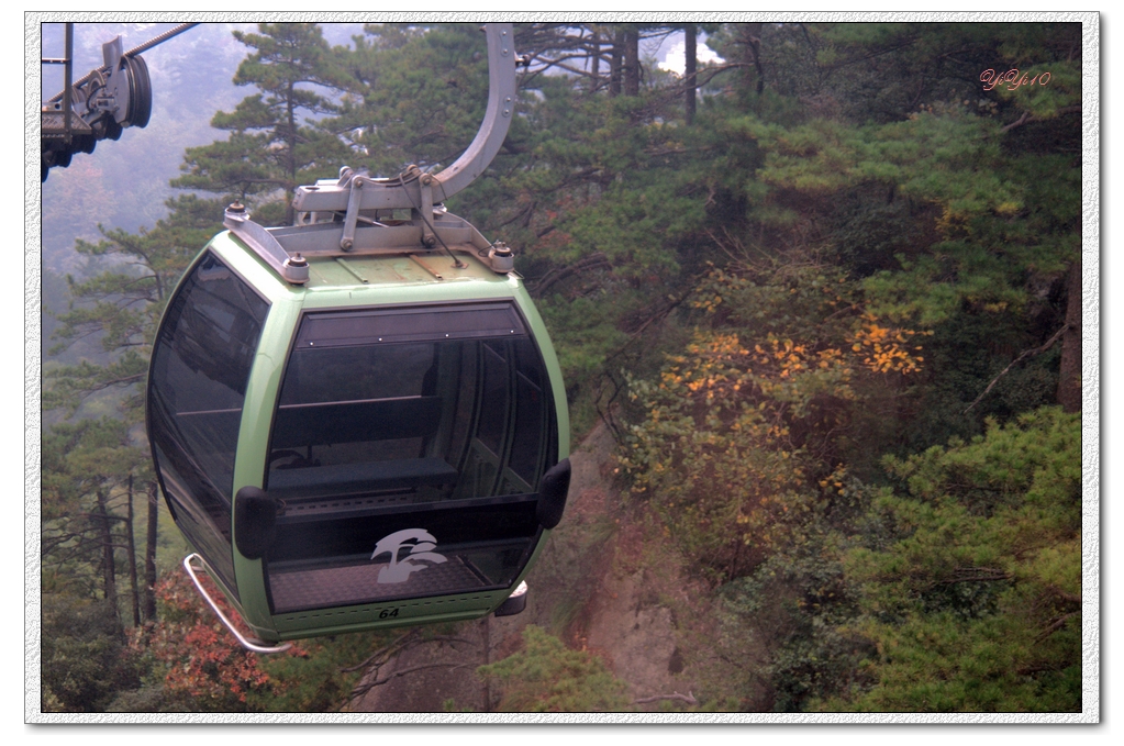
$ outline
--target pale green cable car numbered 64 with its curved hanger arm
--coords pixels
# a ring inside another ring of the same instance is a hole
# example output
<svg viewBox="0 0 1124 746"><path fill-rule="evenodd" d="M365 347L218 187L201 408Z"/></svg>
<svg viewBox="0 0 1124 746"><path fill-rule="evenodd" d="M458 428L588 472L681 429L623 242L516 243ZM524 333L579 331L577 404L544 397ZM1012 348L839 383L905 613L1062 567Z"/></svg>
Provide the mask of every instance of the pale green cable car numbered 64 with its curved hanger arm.
<svg viewBox="0 0 1124 746"><path fill-rule="evenodd" d="M488 111L461 158L344 169L298 188L283 228L232 204L161 321L153 461L187 571L248 649L517 613L562 517L569 421L546 329L510 249L443 207L510 121L511 28L486 33Z"/></svg>

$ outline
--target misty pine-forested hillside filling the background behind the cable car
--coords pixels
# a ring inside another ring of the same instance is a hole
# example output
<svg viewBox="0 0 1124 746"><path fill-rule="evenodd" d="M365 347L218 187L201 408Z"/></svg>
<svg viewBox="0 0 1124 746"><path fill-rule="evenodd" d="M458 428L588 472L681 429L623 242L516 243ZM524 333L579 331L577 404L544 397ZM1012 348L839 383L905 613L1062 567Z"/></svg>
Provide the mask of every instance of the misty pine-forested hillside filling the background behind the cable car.
<svg viewBox="0 0 1124 746"><path fill-rule="evenodd" d="M518 617L272 657L179 568L156 325L232 201L451 164L487 56L218 31L99 146L126 191L45 184L43 711L1082 711L1080 24L516 24L517 116L447 207L558 349L568 511ZM157 140L176 175L129 180Z"/></svg>

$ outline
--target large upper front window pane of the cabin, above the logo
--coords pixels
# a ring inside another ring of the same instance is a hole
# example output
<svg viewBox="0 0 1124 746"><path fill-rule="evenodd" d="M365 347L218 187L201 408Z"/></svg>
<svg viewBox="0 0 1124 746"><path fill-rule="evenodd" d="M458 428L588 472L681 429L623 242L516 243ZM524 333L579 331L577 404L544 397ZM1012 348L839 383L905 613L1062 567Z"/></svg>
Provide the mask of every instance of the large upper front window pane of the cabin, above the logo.
<svg viewBox="0 0 1124 746"><path fill-rule="evenodd" d="M553 443L546 380L510 306L309 313L282 379L266 489L413 503L534 492ZM505 470L520 479L501 484Z"/></svg>

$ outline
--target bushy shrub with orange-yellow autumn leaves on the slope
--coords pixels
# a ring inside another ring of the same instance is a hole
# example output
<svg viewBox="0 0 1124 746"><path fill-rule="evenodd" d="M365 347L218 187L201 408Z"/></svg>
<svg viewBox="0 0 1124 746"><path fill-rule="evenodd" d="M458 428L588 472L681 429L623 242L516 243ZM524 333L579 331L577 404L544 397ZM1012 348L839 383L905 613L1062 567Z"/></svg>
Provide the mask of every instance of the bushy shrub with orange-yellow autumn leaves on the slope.
<svg viewBox="0 0 1124 746"><path fill-rule="evenodd" d="M830 266L716 270L694 298L710 328L633 382L643 420L620 464L686 554L733 580L845 499L852 412L885 398L863 383L892 386L924 358Z"/></svg>

